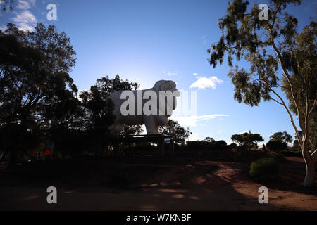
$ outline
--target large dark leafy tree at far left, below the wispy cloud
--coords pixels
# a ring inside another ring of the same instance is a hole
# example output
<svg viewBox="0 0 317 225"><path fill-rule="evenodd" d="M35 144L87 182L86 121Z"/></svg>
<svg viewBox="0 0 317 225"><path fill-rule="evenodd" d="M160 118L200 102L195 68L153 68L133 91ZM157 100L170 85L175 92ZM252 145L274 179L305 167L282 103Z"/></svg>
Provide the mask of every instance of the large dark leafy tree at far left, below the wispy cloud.
<svg viewBox="0 0 317 225"><path fill-rule="evenodd" d="M25 135L49 129L72 110L77 88L68 72L75 51L64 32L42 24L23 32L8 23L0 39L0 124L18 126L9 163L15 165Z"/></svg>

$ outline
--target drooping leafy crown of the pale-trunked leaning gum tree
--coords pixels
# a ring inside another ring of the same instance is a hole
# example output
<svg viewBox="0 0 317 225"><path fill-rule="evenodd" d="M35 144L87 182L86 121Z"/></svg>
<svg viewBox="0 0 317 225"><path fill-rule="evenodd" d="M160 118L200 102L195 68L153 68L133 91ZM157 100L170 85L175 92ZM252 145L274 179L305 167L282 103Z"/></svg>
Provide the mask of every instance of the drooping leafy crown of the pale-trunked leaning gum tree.
<svg viewBox="0 0 317 225"><path fill-rule="evenodd" d="M225 53L228 54L228 65L232 67L228 76L235 85L235 100L247 105L258 105L271 100L270 91L278 86L279 60L274 54L268 53L275 38L285 39L285 44L292 42L297 34L297 20L288 13L282 13L287 4L300 4L301 0L271 1L268 20L259 20L260 10L257 4L247 13L249 1L235 0L228 4L227 15L219 20L222 36L217 44L212 44L208 52L211 54L209 63L213 67L223 63ZM250 70L233 68L232 60L247 60Z"/></svg>

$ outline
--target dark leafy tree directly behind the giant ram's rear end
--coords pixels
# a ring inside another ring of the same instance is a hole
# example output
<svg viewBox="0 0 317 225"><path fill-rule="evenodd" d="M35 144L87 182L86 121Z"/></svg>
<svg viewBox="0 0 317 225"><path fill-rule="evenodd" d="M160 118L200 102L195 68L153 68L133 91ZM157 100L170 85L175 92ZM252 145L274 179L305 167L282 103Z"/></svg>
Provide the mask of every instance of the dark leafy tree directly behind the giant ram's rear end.
<svg viewBox="0 0 317 225"><path fill-rule="evenodd" d="M108 76L97 79L90 91L82 91L82 110L84 111L83 124L90 141L94 146L95 155L102 155L108 148L107 137L109 127L113 124L113 102L109 98L113 91L137 89L139 84L120 79L119 75L109 79ZM142 132L141 126L125 126L123 134L136 134Z"/></svg>

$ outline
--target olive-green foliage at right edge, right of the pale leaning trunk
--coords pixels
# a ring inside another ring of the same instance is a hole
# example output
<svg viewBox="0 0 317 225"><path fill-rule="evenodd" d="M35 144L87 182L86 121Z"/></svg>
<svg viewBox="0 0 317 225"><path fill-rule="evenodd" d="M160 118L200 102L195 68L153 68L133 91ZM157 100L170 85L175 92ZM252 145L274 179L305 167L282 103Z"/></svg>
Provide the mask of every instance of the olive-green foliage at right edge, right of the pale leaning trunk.
<svg viewBox="0 0 317 225"><path fill-rule="evenodd" d="M304 27L304 32L297 34L294 37L294 44L288 48L285 53L285 58L289 63L289 70L292 72L293 89L290 88L287 79L282 77L283 91L289 100L290 110L296 115L299 115L302 120L301 127L304 131L304 115L306 108L311 110L312 105L317 96L317 78L316 78L316 37L317 23L311 23ZM292 91L291 91L292 90ZM296 99L296 103L294 101ZM309 145L311 148L317 148L317 110L312 110L308 122Z"/></svg>

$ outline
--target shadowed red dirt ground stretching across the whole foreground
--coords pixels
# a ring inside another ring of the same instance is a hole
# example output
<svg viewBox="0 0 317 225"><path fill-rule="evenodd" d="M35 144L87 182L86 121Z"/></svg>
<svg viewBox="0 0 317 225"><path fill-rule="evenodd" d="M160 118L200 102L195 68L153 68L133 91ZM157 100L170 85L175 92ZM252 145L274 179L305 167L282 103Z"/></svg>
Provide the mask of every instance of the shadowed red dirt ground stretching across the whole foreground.
<svg viewBox="0 0 317 225"><path fill-rule="evenodd" d="M97 175L80 170L89 165L97 168L99 162L80 162L69 176L41 181L20 170L1 172L0 210L317 210L316 186L301 186L304 162L287 159L279 181L265 184L250 179L249 165L237 162L114 163L122 181L109 180L109 169ZM35 176L39 168L32 170ZM58 168L65 173L63 166ZM117 185L108 186L110 181ZM48 186L58 189L56 205L46 203ZM258 202L260 186L268 187L268 204Z"/></svg>

